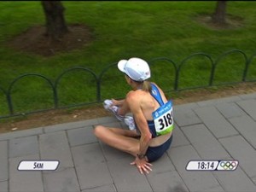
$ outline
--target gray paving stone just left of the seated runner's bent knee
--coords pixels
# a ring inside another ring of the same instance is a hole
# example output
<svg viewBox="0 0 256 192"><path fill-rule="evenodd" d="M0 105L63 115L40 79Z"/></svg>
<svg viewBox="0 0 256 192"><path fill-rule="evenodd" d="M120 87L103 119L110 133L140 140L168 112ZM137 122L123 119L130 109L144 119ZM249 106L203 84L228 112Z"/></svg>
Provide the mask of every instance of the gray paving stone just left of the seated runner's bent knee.
<svg viewBox="0 0 256 192"><path fill-rule="evenodd" d="M93 134L93 127L91 125L83 128L68 130L67 136L72 147L97 142L97 139Z"/></svg>

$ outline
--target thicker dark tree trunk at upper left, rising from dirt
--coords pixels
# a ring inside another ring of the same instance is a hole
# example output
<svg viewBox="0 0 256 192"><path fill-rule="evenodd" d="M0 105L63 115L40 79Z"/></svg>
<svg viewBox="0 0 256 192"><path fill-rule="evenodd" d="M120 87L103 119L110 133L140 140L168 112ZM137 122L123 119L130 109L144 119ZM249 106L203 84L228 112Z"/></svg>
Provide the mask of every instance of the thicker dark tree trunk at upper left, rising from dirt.
<svg viewBox="0 0 256 192"><path fill-rule="evenodd" d="M65 8L61 1L41 1L46 19L46 35L52 40L60 38L68 32L63 15Z"/></svg>

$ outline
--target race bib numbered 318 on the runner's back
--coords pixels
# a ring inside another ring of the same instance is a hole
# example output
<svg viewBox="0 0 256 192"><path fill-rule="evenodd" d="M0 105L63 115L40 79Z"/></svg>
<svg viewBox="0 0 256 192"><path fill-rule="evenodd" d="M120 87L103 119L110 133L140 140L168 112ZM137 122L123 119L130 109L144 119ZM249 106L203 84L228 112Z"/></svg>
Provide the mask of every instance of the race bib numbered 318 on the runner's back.
<svg viewBox="0 0 256 192"><path fill-rule="evenodd" d="M172 102L166 102L166 104L160 106L153 113L154 128L157 136L165 135L173 129L173 110Z"/></svg>

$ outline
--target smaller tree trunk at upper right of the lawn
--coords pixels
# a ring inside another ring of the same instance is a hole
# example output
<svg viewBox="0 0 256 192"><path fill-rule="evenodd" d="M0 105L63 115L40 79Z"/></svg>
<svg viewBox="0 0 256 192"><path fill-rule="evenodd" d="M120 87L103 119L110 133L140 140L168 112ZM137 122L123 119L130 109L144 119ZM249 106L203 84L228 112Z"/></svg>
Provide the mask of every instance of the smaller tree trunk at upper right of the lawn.
<svg viewBox="0 0 256 192"><path fill-rule="evenodd" d="M214 14L212 15L212 22L224 25L226 24L226 1L218 1Z"/></svg>

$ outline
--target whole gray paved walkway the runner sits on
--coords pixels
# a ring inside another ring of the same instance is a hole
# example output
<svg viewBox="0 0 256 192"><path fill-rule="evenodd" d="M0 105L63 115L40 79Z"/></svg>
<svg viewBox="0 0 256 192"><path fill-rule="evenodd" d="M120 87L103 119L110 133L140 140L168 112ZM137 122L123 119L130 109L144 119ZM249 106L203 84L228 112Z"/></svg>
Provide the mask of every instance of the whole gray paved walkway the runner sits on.
<svg viewBox="0 0 256 192"><path fill-rule="evenodd" d="M129 154L99 142L105 117L0 134L0 192L256 191L256 93L174 106L172 147L141 175ZM18 171L20 160L59 160ZM187 171L189 160L238 160L235 171Z"/></svg>

